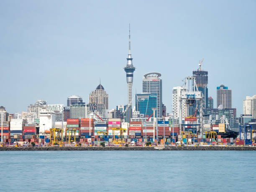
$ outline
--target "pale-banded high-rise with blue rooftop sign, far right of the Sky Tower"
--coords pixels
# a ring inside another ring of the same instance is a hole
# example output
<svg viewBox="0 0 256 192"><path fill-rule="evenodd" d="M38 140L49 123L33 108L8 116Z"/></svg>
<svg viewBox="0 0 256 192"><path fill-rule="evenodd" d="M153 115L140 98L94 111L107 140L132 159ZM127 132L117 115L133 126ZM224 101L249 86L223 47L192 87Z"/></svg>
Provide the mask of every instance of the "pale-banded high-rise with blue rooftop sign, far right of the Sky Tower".
<svg viewBox="0 0 256 192"><path fill-rule="evenodd" d="M221 106L220 106L221 105ZM232 108L232 90L225 85L217 87L217 108Z"/></svg>

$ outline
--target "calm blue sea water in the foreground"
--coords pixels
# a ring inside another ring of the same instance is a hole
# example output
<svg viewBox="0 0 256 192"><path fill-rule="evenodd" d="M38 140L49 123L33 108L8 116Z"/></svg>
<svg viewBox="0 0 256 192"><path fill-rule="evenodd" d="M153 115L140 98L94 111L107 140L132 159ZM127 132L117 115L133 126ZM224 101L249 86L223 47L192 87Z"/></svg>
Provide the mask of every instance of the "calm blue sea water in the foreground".
<svg viewBox="0 0 256 192"><path fill-rule="evenodd" d="M256 151L0 151L0 191L255 191Z"/></svg>

